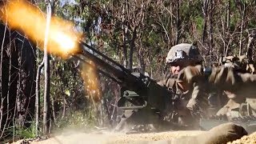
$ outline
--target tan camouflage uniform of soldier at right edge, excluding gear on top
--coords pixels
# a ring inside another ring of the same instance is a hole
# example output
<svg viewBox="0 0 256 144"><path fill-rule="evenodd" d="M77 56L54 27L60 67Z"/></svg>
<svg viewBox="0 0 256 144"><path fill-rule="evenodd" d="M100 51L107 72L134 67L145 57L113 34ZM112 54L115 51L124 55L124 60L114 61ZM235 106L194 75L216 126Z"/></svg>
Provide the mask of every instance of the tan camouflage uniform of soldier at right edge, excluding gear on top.
<svg viewBox="0 0 256 144"><path fill-rule="evenodd" d="M249 73L234 72L233 67L222 66L213 70L209 81L214 83L220 89L225 90L229 101L217 115L226 115L232 118L232 111L241 112L242 103L250 105L250 114L255 114L255 98L256 98L256 75ZM250 115L246 114L246 115ZM236 114L234 117L238 117Z"/></svg>

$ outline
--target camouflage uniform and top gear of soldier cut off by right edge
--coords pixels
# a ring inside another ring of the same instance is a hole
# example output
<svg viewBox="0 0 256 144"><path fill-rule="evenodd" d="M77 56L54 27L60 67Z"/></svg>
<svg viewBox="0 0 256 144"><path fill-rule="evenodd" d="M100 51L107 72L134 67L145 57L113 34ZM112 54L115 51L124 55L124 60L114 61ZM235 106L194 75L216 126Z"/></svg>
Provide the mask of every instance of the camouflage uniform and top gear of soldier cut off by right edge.
<svg viewBox="0 0 256 144"><path fill-rule="evenodd" d="M214 82L219 89L224 90L224 93L229 100L222 109L218 110L217 115L227 115L229 118L232 118L233 116L238 117L238 113L241 112L239 112L239 110L242 109L243 103L250 105L250 114L255 114L254 98L256 95L254 94L255 82L253 62L250 58L242 55L239 57L223 57L221 58L220 63L222 64L222 67L213 70L210 76L210 82ZM223 82L229 82L227 84L231 84L231 86L223 86ZM237 114L234 115L234 112L237 112Z"/></svg>

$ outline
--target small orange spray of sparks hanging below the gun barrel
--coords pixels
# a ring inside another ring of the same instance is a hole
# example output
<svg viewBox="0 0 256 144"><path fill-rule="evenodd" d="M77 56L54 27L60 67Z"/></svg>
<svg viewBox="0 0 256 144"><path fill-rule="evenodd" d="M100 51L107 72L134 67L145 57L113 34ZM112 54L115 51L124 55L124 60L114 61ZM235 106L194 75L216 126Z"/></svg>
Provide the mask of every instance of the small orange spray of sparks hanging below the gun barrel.
<svg viewBox="0 0 256 144"><path fill-rule="evenodd" d="M89 93L89 96L93 102L99 102L101 97L101 90L99 84L98 73L94 68L94 64L91 62L89 64L83 63L82 65L82 79L84 82L84 88Z"/></svg>

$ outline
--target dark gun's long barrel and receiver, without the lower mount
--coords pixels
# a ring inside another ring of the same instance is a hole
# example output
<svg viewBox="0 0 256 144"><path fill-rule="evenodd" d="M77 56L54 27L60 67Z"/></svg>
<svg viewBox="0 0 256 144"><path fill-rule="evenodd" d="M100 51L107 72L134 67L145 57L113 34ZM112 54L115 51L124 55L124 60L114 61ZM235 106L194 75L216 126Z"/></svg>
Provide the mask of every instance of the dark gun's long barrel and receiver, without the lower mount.
<svg viewBox="0 0 256 144"><path fill-rule="evenodd" d="M123 109L142 109L150 106L150 108L163 112L168 105L171 105L172 94L165 87L158 85L157 82L144 74L132 73L85 42L79 43L80 51L73 57L86 62L89 66L96 67L99 73L118 82L122 87L121 98L118 101L119 107ZM90 64L90 61L94 65ZM126 102L131 102L133 106L126 106Z"/></svg>

